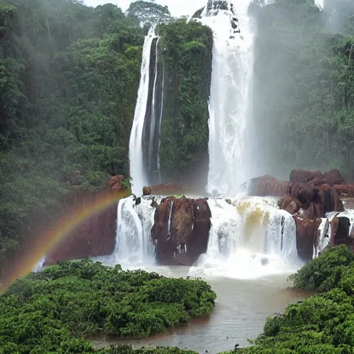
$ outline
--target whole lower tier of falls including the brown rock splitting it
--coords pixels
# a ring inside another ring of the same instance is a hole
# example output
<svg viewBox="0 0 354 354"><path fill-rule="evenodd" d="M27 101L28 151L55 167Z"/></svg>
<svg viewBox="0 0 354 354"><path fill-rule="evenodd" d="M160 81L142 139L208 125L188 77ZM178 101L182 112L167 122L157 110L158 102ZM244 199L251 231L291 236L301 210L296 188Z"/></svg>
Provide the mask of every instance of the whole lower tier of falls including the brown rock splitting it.
<svg viewBox="0 0 354 354"><path fill-rule="evenodd" d="M115 251L100 260L124 268L194 265L192 274L244 278L297 262L295 221L276 198L130 196L117 224Z"/></svg>

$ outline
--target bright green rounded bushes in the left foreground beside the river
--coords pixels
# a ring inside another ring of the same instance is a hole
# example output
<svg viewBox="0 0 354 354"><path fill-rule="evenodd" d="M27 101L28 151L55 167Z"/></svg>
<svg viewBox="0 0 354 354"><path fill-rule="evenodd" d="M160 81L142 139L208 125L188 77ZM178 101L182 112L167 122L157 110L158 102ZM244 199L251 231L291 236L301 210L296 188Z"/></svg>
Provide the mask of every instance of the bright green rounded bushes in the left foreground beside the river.
<svg viewBox="0 0 354 354"><path fill-rule="evenodd" d="M201 280L90 260L60 263L17 280L1 295L0 353L91 353L86 335L147 337L211 313L215 298Z"/></svg>

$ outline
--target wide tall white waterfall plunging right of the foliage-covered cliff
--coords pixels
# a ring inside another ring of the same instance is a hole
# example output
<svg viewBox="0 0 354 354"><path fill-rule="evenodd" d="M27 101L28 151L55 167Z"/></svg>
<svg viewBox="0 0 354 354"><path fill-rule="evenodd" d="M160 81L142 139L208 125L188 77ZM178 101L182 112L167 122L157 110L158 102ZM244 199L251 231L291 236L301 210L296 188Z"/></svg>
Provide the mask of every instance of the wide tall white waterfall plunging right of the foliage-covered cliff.
<svg viewBox="0 0 354 354"><path fill-rule="evenodd" d="M254 141L250 132L254 35L249 3L209 0L201 19L214 32L207 192L221 196L235 196L252 177L254 156L248 142Z"/></svg>

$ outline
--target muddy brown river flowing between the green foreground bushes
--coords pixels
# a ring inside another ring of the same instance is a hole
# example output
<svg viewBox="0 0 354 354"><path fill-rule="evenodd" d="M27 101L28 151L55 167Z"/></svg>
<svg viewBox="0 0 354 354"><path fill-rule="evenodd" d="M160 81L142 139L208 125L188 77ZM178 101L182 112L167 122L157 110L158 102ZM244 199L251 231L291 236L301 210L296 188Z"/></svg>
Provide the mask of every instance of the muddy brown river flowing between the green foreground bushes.
<svg viewBox="0 0 354 354"><path fill-rule="evenodd" d="M169 277L185 277L188 267L154 267ZM248 338L254 339L263 330L266 317L283 313L288 304L311 294L290 288L286 281L290 273L273 274L259 279L205 278L216 292L216 305L209 317L194 319L187 326L168 330L147 339L122 340L115 337L93 337L97 348L110 344L130 343L133 346L178 346L198 353L220 353L240 346L249 346Z"/></svg>

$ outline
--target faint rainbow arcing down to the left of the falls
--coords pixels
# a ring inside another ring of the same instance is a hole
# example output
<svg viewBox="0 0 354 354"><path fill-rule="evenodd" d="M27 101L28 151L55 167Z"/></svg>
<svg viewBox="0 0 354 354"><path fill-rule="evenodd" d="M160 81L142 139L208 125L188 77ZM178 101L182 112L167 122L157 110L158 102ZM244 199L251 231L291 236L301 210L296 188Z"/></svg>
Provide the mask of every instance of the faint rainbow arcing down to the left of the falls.
<svg viewBox="0 0 354 354"><path fill-rule="evenodd" d="M68 208L69 210L66 211L65 216L59 217L54 225L35 235L30 243L26 245L26 248L16 255L13 259L13 264L10 264L10 270L0 281L2 283L0 284L0 294L6 290L10 283L32 272L35 269L35 265L75 227L93 214L100 212L113 203L118 203L121 198L125 198L130 194L131 192L128 191L102 192L95 195L95 198L91 198L90 201L86 201L78 209L75 209L75 205Z"/></svg>

